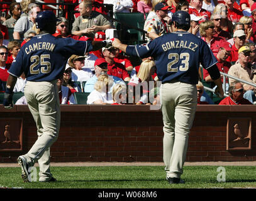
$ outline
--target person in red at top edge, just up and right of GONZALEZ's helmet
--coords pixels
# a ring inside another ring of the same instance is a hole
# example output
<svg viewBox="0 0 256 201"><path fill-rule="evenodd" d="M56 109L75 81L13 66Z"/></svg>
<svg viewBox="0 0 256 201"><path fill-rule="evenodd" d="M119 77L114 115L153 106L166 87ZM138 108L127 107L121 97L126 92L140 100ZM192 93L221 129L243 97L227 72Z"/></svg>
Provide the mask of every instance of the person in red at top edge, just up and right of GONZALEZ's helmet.
<svg viewBox="0 0 256 201"><path fill-rule="evenodd" d="M191 0L189 6L189 14L203 17L201 21L206 21L211 18L211 13L202 8L203 0ZM200 22L201 22L200 21Z"/></svg>

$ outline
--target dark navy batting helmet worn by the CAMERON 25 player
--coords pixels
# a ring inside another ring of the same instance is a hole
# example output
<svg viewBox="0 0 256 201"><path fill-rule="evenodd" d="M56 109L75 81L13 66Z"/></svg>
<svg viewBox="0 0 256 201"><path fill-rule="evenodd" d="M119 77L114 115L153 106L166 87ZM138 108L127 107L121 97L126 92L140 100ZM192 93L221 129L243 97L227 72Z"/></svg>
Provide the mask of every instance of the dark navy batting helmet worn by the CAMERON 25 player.
<svg viewBox="0 0 256 201"><path fill-rule="evenodd" d="M56 23L56 21L56 16L52 11L40 12L36 16L36 28L42 31L48 24Z"/></svg>

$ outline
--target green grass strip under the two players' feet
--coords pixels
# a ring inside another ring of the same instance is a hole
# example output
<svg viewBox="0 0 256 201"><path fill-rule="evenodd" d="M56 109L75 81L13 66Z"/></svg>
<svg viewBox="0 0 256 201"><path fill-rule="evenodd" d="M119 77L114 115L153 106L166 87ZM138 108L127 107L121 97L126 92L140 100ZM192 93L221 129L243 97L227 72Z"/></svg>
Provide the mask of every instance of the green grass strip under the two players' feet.
<svg viewBox="0 0 256 201"><path fill-rule="evenodd" d="M256 188L256 166L225 166L226 182L217 181L220 173L217 168L218 166L184 166L182 179L186 183L179 185L169 185L165 180L164 166L54 166L51 171L57 182L53 183L24 183L20 177L20 168L0 168L0 187Z"/></svg>

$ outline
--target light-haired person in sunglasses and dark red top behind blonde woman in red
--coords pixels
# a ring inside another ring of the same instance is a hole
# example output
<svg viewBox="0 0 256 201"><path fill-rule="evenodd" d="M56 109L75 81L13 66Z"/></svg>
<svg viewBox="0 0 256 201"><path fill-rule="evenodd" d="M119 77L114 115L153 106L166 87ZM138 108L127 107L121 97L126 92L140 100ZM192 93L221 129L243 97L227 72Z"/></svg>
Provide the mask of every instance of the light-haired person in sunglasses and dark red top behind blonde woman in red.
<svg viewBox="0 0 256 201"><path fill-rule="evenodd" d="M231 38L231 36L230 36L230 33L228 33L228 31L224 31L221 28L221 24L222 24L221 19L222 19L221 14L213 13L211 15L211 21L213 21L214 23L214 31L215 31L215 34L213 36L221 37L225 40L228 40Z"/></svg>

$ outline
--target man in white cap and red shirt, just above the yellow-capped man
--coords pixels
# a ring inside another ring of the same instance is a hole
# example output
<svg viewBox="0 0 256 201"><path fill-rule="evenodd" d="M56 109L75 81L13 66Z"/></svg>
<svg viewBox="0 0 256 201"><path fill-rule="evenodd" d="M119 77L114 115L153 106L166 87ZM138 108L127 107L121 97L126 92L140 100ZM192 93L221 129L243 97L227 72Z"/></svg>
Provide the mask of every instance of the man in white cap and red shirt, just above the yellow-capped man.
<svg viewBox="0 0 256 201"><path fill-rule="evenodd" d="M238 60L238 50L245 45L246 35L245 31L237 30L234 35L234 45L232 46L233 51L231 52L230 57L228 58L228 62L237 62Z"/></svg>

